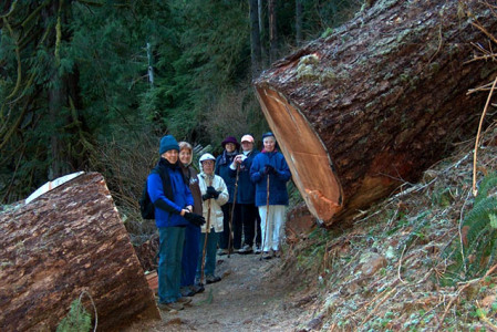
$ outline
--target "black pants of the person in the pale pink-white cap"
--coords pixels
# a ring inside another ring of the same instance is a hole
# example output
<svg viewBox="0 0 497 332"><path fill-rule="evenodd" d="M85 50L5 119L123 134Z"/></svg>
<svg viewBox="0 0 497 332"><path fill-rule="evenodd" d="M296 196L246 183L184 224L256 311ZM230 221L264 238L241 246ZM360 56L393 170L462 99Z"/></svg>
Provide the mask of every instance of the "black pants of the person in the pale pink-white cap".
<svg viewBox="0 0 497 332"><path fill-rule="evenodd" d="M253 240L258 237L258 241L256 239L256 243L260 243L260 218L259 209L253 204L237 204L235 208L235 218L237 220L236 225L239 228L239 241L241 241L241 229L244 229L244 243L250 247L253 246ZM259 222L257 222L259 219ZM258 227L258 229L256 229ZM235 246L237 246L237 232L238 229L235 230ZM240 243L240 242L238 242Z"/></svg>

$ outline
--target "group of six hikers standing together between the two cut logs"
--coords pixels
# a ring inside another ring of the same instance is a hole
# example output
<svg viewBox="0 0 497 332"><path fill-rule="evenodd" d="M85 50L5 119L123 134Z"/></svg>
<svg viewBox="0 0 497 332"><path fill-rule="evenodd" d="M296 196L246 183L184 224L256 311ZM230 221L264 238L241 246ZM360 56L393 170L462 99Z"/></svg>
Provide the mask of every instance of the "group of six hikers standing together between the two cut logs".
<svg viewBox="0 0 497 332"><path fill-rule="evenodd" d="M216 276L216 255L279 257L291 174L272 133L263 148L251 135L226 137L222 154L204 154L191 166L193 147L170 135L161 139L161 159L147 178L159 232L158 307L182 310Z"/></svg>

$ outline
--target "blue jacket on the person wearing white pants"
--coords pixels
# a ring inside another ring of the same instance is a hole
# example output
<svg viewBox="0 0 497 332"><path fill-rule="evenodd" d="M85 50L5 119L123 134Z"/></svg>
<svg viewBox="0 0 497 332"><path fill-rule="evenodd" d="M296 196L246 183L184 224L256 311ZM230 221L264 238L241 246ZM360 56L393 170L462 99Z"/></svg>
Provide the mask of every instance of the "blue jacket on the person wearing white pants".
<svg viewBox="0 0 497 332"><path fill-rule="evenodd" d="M269 174L269 205L288 205L287 181L291 174L284 157L279 152L262 152L258 154L250 167L250 179L256 184L256 206L267 204L267 181L265 175L266 165L275 167L275 174Z"/></svg>

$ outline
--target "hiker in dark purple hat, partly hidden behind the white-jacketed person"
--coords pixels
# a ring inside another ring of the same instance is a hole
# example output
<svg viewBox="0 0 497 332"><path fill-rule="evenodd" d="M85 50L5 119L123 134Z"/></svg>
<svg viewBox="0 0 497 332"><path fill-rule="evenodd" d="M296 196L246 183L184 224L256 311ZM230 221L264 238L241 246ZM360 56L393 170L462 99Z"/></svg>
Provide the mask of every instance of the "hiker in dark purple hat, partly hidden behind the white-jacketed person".
<svg viewBox="0 0 497 332"><path fill-rule="evenodd" d="M230 232L231 227L229 226L229 220L231 219L231 210L232 210L232 201L235 194L235 178L229 175L229 166L231 165L236 155L238 155L238 149L240 148L240 144L237 138L234 136L227 136L225 141L222 141L221 146L224 148L222 154L219 155L216 159L216 169L215 174L219 175L226 183L229 193L228 203L222 206L222 215L224 215L224 231L219 237L219 255L227 255L234 247L231 241L231 248L228 248L228 243L230 242ZM235 249L240 249L239 247L235 247Z"/></svg>

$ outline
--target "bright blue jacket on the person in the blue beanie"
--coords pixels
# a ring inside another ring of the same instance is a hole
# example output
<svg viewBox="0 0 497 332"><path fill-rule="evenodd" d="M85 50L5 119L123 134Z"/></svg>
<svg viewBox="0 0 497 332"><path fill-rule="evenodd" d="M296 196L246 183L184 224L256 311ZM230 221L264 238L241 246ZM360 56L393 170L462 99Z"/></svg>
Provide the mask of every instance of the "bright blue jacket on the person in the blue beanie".
<svg viewBox="0 0 497 332"><path fill-rule="evenodd" d="M191 191L185 183L179 163L169 164L161 158L158 167L167 172L166 188L161 176L152 173L147 177L147 190L155 206L155 225L157 227L186 226L188 221L179 214L188 205L194 205Z"/></svg>

